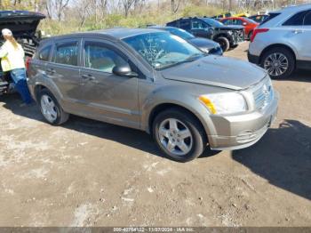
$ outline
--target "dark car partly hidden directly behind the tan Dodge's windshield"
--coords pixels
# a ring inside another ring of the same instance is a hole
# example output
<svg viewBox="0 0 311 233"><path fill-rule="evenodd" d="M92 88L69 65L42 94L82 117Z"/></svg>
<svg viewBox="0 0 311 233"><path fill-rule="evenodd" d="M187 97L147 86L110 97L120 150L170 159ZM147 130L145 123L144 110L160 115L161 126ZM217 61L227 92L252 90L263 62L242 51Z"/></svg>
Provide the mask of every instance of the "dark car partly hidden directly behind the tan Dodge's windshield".
<svg viewBox="0 0 311 233"><path fill-rule="evenodd" d="M170 32L172 35L179 36L186 40L188 43L194 44L201 51L213 54L213 55L222 55L222 49L217 42L214 42L210 39L205 39L202 37L195 37L191 33L188 33L184 29L175 28L175 27L160 27L153 26L149 28L155 28L159 30L164 30Z"/></svg>

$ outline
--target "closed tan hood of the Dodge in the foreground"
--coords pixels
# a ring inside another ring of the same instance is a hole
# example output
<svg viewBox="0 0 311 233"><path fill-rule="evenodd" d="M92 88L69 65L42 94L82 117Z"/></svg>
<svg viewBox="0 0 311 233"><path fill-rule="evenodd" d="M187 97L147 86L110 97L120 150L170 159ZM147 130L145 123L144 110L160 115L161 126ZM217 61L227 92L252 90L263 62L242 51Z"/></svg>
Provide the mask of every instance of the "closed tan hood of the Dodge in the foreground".
<svg viewBox="0 0 311 233"><path fill-rule="evenodd" d="M208 55L192 62L163 69L166 79L243 90L259 83L267 73L249 62Z"/></svg>

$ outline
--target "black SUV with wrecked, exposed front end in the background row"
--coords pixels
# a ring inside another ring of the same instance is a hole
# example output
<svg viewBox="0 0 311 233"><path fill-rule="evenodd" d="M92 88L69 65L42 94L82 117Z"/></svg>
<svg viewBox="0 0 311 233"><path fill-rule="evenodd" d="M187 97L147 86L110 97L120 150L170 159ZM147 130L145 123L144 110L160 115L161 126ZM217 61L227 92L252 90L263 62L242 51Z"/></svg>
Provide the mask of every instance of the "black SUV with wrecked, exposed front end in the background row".
<svg viewBox="0 0 311 233"><path fill-rule="evenodd" d="M166 26L182 28L194 36L212 39L220 44L223 52L244 41L242 26L226 26L210 18L181 18L167 23Z"/></svg>

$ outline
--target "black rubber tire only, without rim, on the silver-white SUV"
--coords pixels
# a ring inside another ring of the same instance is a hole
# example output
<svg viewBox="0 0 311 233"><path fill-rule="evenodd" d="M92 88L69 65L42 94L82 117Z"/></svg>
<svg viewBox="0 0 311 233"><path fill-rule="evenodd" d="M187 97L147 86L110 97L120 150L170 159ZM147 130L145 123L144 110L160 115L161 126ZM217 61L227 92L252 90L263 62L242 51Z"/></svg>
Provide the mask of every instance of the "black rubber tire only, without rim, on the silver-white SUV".
<svg viewBox="0 0 311 233"><path fill-rule="evenodd" d="M287 77L291 76L291 74L293 73L293 71L295 70L295 67L296 67L295 56L289 49L286 49L283 47L275 47L275 48L272 48L272 49L268 50L267 52L265 52L261 56L260 66L262 68L265 68L265 60L267 60L267 57L273 53L282 53L286 57L286 59L288 60L288 68L282 75L279 75L279 76L269 74L271 76L271 78L283 79L283 78L287 78Z"/></svg>

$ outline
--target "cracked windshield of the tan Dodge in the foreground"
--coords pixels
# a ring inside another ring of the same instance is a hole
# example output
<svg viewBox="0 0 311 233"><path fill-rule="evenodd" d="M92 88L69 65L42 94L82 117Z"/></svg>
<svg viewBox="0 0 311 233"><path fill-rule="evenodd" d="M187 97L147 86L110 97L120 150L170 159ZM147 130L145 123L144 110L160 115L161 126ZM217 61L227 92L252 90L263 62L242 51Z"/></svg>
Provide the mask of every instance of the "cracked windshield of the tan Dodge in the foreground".
<svg viewBox="0 0 311 233"><path fill-rule="evenodd" d="M205 53L192 44L167 32L130 36L124 38L123 41L139 52L156 69L169 68L205 56Z"/></svg>

